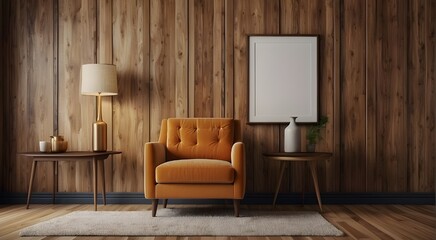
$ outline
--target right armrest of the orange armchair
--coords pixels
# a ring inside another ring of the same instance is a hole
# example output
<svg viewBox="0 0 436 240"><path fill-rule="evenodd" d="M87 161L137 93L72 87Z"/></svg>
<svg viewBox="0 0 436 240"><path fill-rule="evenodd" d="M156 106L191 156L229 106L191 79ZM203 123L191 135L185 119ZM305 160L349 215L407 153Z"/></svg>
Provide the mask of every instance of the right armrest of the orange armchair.
<svg viewBox="0 0 436 240"><path fill-rule="evenodd" d="M234 198L243 199L245 195L245 147L244 143L236 142L232 146L231 163L236 171L234 183Z"/></svg>

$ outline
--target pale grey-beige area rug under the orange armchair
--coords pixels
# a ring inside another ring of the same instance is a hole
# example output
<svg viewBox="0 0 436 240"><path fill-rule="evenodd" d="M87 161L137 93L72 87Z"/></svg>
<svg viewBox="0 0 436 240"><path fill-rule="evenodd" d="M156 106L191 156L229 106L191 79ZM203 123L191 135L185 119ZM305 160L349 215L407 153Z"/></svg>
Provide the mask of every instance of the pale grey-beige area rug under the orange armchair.
<svg viewBox="0 0 436 240"><path fill-rule="evenodd" d="M174 208L77 211L22 229L20 236L342 236L318 212Z"/></svg>

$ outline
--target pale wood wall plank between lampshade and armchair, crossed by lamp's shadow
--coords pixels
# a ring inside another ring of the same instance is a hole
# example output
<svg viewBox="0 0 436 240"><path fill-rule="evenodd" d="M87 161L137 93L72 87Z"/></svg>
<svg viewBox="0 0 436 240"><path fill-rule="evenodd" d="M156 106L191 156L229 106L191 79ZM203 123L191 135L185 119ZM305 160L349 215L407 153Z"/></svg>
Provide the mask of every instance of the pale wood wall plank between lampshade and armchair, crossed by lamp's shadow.
<svg viewBox="0 0 436 240"><path fill-rule="evenodd" d="M113 1L113 63L118 95L113 97L114 149L123 153L113 162L113 191L144 189L143 147L148 137L148 81L144 73L144 1Z"/></svg>

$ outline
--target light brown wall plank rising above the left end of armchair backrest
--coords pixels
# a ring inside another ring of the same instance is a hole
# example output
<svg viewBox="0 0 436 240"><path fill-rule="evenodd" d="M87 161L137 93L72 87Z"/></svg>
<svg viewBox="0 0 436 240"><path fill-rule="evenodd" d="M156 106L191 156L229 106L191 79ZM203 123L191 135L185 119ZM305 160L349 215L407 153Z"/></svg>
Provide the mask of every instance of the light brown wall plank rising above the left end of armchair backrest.
<svg viewBox="0 0 436 240"><path fill-rule="evenodd" d="M150 131L157 140L162 118L174 117L174 0L150 2Z"/></svg>

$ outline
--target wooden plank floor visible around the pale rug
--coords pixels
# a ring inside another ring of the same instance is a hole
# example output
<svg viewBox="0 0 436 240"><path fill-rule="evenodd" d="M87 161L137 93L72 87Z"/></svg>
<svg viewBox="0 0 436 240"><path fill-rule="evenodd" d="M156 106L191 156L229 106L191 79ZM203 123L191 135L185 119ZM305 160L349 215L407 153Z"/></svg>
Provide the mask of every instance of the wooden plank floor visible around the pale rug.
<svg viewBox="0 0 436 240"><path fill-rule="evenodd" d="M203 207L204 205L201 205ZM179 207L178 205L170 207ZM184 206L180 206L184 207ZM195 207L190 205L189 207ZM230 207L230 206L229 206ZM241 206L269 209L270 206ZM92 205L0 205L0 239L147 239L147 240L287 240L287 239L436 239L434 205L324 205L323 216L341 229L343 237L19 237L20 229ZM150 210L149 205L106 205L99 211ZM318 210L316 205L283 206L277 210Z"/></svg>

